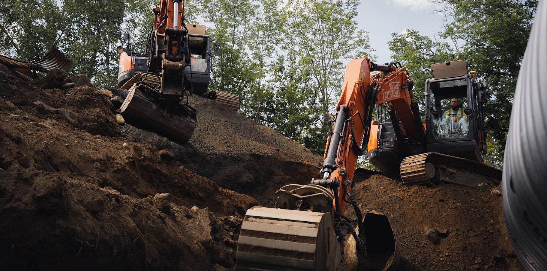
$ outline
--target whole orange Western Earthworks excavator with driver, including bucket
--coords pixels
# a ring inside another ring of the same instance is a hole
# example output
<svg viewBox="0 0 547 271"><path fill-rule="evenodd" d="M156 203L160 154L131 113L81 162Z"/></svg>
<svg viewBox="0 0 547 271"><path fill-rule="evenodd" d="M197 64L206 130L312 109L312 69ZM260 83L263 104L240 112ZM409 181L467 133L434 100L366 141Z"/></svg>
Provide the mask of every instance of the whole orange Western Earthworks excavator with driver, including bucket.
<svg viewBox="0 0 547 271"><path fill-rule="evenodd" d="M409 185L499 183L501 171L482 159L486 84L476 82L465 61L432 69L423 123L414 81L400 63L379 65L367 57L348 63L321 177L283 186L277 208L247 210L235 270L336 270L342 248L351 270L393 270L399 250L387 216L363 215L351 195L357 159L365 152L381 170L400 170ZM449 103L449 111L446 100L458 103ZM346 206L356 218L346 216Z"/></svg>

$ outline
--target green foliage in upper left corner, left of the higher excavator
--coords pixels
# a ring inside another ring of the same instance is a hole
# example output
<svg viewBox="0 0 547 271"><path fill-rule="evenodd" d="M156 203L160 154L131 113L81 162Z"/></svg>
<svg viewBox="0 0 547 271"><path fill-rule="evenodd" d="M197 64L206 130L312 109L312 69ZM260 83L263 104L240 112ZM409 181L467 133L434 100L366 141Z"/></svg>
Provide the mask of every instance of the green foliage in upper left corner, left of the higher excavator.
<svg viewBox="0 0 547 271"><path fill-rule="evenodd" d="M0 53L26 61L43 57L56 43L97 87L114 87L121 34L131 28L133 45L144 47L152 19L150 0L14 0L0 7ZM148 26L148 27L146 27Z"/></svg>

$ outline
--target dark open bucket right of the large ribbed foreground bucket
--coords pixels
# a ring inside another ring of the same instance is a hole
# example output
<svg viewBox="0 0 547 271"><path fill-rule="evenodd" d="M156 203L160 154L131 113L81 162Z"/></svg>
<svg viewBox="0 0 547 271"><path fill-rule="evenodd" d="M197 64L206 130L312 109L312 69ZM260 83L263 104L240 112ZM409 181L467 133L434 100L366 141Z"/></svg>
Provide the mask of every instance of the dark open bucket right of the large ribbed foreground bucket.
<svg viewBox="0 0 547 271"><path fill-rule="evenodd" d="M391 271L400 260L399 246L386 215L366 213L363 218L365 253L357 251L355 239L347 239L344 254L348 270ZM359 229L356 229L359 232Z"/></svg>

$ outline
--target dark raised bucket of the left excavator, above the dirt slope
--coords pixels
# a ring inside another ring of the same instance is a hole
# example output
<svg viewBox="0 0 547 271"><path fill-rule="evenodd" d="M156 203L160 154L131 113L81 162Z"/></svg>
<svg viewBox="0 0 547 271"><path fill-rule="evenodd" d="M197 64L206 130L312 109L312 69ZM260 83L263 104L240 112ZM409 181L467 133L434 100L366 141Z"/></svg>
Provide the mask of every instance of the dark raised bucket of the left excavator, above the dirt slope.
<svg viewBox="0 0 547 271"><path fill-rule="evenodd" d="M119 112L127 123L184 144L196 128L196 111L189 105L158 99L147 92L144 83L135 83Z"/></svg>

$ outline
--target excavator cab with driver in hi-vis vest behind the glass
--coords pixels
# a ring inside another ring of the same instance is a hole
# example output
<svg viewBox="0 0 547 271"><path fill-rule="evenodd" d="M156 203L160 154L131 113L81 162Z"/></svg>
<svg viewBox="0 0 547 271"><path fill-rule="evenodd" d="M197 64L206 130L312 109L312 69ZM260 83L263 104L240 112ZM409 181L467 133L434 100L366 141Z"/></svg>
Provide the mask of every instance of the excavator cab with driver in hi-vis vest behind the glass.
<svg viewBox="0 0 547 271"><path fill-rule="evenodd" d="M426 81L426 142L428 152L438 152L484 162L486 85L467 62L432 65L433 79Z"/></svg>

